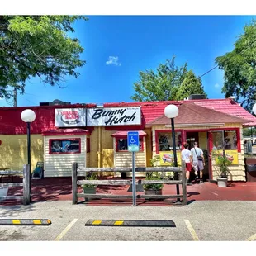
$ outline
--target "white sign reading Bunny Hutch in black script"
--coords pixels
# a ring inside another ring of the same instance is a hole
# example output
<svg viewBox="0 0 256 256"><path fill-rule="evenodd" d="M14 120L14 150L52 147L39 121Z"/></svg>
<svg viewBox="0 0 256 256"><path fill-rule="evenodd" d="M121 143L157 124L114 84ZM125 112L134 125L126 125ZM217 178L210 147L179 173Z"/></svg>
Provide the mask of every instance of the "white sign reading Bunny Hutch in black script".
<svg viewBox="0 0 256 256"><path fill-rule="evenodd" d="M140 124L140 107L87 109L87 126L130 126Z"/></svg>

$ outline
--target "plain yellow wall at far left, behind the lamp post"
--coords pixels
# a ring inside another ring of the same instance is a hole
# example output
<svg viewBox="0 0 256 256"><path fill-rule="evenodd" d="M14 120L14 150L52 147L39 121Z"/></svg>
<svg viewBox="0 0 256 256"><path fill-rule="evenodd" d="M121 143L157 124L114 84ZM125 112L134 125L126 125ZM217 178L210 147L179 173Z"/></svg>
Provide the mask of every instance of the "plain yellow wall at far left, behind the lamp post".
<svg viewBox="0 0 256 256"><path fill-rule="evenodd" d="M0 166L21 170L23 164L27 164L26 135L0 135L0 140ZM43 161L43 136L31 135L31 172L36 168L37 162Z"/></svg>

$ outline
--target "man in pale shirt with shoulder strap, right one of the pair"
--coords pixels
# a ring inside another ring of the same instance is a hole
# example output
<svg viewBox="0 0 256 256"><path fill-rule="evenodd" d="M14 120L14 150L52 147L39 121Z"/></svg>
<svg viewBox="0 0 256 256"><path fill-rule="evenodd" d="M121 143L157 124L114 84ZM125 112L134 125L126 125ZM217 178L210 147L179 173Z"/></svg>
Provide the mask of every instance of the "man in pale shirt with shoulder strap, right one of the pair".
<svg viewBox="0 0 256 256"><path fill-rule="evenodd" d="M193 168L195 170L196 176L196 181L197 178L199 178L200 183L203 183L202 181L202 171L205 166L205 159L203 157L203 152L202 150L198 147L198 143L194 142L194 147L191 149L191 154L192 154L192 162L193 162ZM199 177L198 177L199 174Z"/></svg>

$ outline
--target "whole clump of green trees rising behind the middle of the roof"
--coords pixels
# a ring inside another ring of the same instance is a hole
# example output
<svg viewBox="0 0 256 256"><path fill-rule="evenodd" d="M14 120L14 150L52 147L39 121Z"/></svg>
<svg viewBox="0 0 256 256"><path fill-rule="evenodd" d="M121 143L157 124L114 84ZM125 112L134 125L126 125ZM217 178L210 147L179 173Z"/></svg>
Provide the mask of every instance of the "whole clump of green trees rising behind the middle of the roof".
<svg viewBox="0 0 256 256"><path fill-rule="evenodd" d="M159 64L156 71L140 71L140 80L134 83L134 89L131 99L135 102L182 100L190 94L203 92L201 80L187 71L187 63L180 67L175 65L174 56L165 64Z"/></svg>

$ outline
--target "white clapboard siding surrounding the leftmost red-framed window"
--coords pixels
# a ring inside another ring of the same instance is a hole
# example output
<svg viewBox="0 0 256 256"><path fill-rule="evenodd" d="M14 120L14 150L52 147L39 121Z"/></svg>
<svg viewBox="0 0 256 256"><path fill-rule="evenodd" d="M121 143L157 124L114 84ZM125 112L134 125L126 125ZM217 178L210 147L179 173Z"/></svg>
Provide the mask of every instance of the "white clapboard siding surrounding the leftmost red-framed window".
<svg viewBox="0 0 256 256"><path fill-rule="evenodd" d="M50 139L81 139L80 154L49 154ZM45 177L65 177L71 176L73 162L78 163L78 167L86 166L86 136L85 135L65 135L65 136L45 136L44 138L45 157Z"/></svg>

